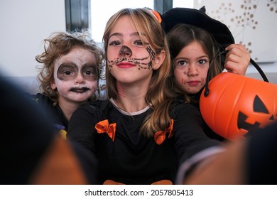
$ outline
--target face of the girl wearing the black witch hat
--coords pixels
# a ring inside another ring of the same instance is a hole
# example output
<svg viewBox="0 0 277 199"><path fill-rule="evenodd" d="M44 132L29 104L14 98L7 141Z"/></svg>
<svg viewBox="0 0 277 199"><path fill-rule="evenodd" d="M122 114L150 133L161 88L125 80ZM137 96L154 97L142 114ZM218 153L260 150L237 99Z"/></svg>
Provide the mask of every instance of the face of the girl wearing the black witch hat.
<svg viewBox="0 0 277 199"><path fill-rule="evenodd" d="M173 61L175 84L186 94L195 94L205 86L209 58L196 41L185 46Z"/></svg>

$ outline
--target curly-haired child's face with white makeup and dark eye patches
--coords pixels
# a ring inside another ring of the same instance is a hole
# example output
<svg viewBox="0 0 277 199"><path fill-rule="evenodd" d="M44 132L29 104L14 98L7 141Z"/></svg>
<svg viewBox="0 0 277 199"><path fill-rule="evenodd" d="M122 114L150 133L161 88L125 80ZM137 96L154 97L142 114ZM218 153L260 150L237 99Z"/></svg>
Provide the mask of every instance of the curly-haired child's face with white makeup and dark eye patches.
<svg viewBox="0 0 277 199"><path fill-rule="evenodd" d="M54 63L52 89L59 92L60 101L85 102L97 90L97 65L89 50L75 47Z"/></svg>

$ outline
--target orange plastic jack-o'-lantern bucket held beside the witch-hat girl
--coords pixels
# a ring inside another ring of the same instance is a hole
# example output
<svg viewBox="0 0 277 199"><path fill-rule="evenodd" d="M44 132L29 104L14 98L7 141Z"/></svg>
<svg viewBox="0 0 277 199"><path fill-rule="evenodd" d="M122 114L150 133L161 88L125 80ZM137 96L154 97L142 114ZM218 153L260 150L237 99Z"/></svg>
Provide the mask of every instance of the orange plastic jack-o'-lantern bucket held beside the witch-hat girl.
<svg viewBox="0 0 277 199"><path fill-rule="evenodd" d="M277 85L222 72L200 97L200 111L210 128L226 139L252 136L251 129L277 121Z"/></svg>

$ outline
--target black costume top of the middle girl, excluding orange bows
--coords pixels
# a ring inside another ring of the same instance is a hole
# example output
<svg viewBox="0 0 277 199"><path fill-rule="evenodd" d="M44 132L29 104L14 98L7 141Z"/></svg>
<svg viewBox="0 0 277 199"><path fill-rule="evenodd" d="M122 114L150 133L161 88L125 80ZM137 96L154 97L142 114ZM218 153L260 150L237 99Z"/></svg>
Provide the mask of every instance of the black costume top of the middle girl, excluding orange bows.
<svg viewBox="0 0 277 199"><path fill-rule="evenodd" d="M124 113L109 99L90 102L78 108L70 119L67 139L85 146L96 155L99 184L112 180L124 184L151 184L169 180L175 183L178 166L204 149L221 142L208 138L202 130L200 113L191 104L176 102L170 108L173 136L161 145L153 136L139 134L151 108ZM107 133L97 133L95 125L104 120L116 124L114 141Z"/></svg>

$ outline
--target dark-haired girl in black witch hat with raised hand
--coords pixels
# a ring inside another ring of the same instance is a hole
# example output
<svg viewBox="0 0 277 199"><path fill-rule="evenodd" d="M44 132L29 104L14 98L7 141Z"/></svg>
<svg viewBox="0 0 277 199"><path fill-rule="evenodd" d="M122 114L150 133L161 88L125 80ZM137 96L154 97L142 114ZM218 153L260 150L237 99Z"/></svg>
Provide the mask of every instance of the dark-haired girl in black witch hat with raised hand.
<svg viewBox="0 0 277 199"><path fill-rule="evenodd" d="M249 53L244 45L234 44L232 33L224 23L205 14L205 7L200 10L173 8L166 11L162 19L172 59L170 80L180 99L200 109L199 99L206 78L211 80L224 69L245 75L250 62ZM207 136L225 140L204 120L203 124Z"/></svg>

